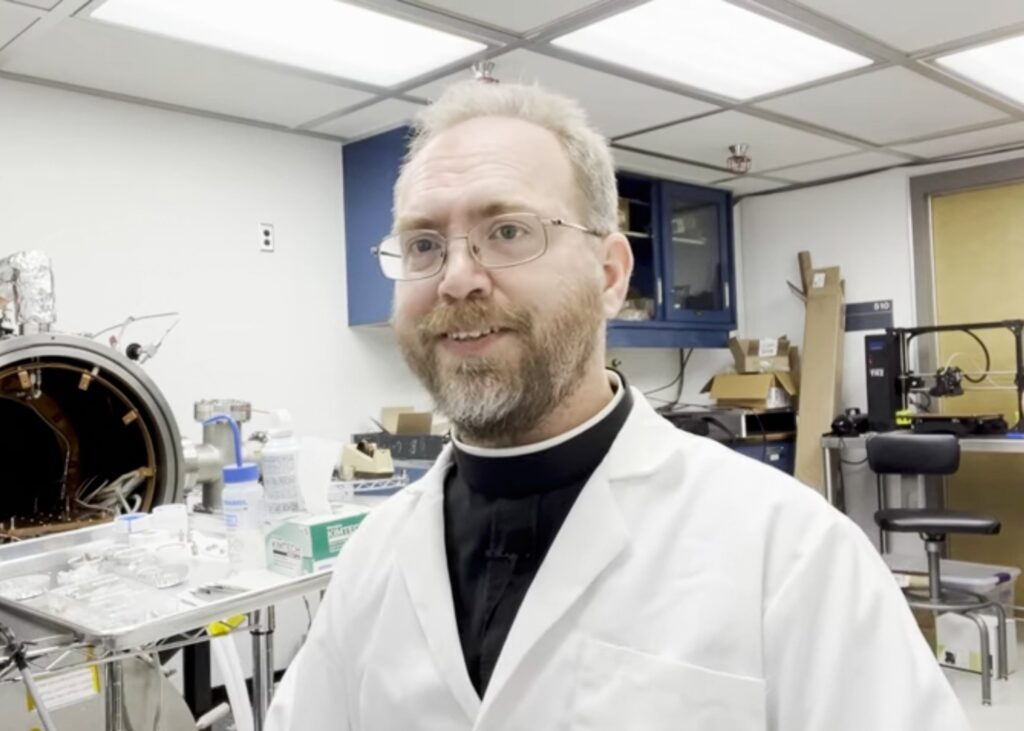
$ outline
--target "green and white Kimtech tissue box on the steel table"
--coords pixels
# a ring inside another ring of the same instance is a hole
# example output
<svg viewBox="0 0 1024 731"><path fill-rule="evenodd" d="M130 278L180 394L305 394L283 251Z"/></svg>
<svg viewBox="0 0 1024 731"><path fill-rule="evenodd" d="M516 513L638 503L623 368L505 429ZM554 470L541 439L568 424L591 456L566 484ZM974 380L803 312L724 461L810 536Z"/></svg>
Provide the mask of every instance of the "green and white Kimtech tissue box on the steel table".
<svg viewBox="0 0 1024 731"><path fill-rule="evenodd" d="M286 576L330 568L367 512L359 506L340 506L329 515L303 515L286 520L266 536L266 567Z"/></svg>

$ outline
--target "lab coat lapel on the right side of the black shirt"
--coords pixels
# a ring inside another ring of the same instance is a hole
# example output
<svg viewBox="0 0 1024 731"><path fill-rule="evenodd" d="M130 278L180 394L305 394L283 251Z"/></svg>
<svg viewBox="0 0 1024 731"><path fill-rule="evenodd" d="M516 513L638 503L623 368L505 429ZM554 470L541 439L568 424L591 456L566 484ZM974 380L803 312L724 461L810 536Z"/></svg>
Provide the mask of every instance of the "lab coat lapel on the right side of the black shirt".
<svg viewBox="0 0 1024 731"><path fill-rule="evenodd" d="M626 548L629 534L604 471L581 491L509 630L480 711L509 684L527 653Z"/></svg>

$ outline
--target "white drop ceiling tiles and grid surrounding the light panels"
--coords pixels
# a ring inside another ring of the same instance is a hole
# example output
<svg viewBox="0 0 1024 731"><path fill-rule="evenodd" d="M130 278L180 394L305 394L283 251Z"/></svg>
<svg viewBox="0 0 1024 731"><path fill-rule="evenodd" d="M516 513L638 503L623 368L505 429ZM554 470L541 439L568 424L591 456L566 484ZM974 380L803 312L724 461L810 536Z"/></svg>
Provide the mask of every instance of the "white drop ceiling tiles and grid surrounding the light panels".
<svg viewBox="0 0 1024 731"><path fill-rule="evenodd" d="M684 0L679 0L683 2ZM351 141L402 125L480 58L580 100L624 170L739 195L1024 145L1024 106L939 55L1024 34L1024 0L729 0L871 63L746 100L552 41L639 0L358 0L485 50L388 87L113 27L101 0L0 0L0 78ZM746 143L749 175L725 165Z"/></svg>

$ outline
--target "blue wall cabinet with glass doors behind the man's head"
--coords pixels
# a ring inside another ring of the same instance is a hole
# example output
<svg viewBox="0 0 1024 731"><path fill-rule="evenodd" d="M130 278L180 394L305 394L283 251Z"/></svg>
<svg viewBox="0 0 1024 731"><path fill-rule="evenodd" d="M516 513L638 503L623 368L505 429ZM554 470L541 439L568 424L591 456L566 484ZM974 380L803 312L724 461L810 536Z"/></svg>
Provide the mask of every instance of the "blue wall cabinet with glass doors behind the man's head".
<svg viewBox="0 0 1024 731"><path fill-rule="evenodd" d="M342 148L349 326L384 325L391 314L393 285L371 248L391 229L408 140L402 127ZM618 191L635 259L631 311L643 318L609 322L608 345L726 347L736 321L730 193L627 173Z"/></svg>

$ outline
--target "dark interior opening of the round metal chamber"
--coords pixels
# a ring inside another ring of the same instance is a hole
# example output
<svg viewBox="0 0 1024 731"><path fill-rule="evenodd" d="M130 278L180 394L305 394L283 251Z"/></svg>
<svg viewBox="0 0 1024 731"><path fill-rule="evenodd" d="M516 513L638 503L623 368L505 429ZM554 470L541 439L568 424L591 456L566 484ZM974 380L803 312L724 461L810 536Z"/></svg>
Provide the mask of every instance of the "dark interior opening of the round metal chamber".
<svg viewBox="0 0 1024 731"><path fill-rule="evenodd" d="M75 358L5 364L0 425L0 538L33 538L152 508L160 458L155 425L113 374Z"/></svg>

